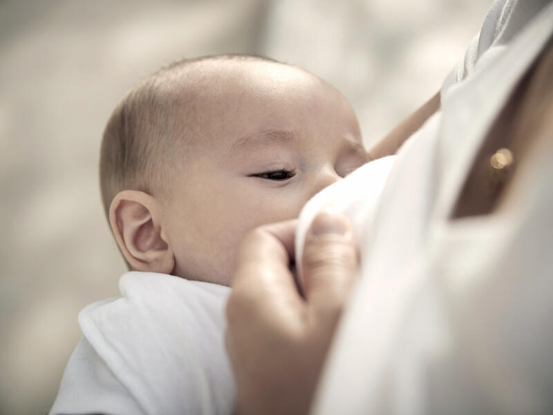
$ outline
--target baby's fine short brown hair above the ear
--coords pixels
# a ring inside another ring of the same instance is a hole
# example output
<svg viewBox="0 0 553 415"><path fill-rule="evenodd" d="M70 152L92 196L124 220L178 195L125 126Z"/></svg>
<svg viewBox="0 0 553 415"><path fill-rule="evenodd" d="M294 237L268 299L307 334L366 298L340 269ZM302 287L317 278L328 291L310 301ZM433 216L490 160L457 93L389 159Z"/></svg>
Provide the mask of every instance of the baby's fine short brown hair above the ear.
<svg viewBox="0 0 553 415"><path fill-rule="evenodd" d="M187 125L187 121L194 124L193 120L180 120L176 115L177 109L186 113L185 107L194 105L194 98L187 97L184 89L179 90L185 83L185 69L196 62L231 59L281 63L245 54L181 59L142 80L115 107L100 150L100 190L108 221L111 201L122 190L164 194L170 183L171 169L167 165L171 156L185 147L182 143L191 142L190 135L197 133Z"/></svg>

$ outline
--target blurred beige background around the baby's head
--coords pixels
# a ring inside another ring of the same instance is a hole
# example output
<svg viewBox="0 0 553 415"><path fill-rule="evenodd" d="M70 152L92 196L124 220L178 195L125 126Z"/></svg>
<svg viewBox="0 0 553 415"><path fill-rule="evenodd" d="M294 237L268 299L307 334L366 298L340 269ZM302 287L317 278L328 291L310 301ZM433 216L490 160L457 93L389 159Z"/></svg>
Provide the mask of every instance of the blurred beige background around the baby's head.
<svg viewBox="0 0 553 415"><path fill-rule="evenodd" d="M238 52L353 104L367 145L440 88L491 0L0 1L0 414L46 414L77 313L125 267L97 184L104 124L142 77Z"/></svg>

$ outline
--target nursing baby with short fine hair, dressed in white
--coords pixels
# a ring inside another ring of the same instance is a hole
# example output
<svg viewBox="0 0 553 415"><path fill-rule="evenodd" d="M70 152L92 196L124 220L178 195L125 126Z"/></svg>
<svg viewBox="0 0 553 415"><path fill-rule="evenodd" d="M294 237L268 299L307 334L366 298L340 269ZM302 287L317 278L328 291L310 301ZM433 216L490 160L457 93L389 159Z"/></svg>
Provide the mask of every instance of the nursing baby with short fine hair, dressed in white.
<svg viewBox="0 0 553 415"><path fill-rule="evenodd" d="M241 239L367 161L346 98L301 68L216 55L138 84L106 126L100 185L142 273L79 314L50 414L232 413L223 308Z"/></svg>

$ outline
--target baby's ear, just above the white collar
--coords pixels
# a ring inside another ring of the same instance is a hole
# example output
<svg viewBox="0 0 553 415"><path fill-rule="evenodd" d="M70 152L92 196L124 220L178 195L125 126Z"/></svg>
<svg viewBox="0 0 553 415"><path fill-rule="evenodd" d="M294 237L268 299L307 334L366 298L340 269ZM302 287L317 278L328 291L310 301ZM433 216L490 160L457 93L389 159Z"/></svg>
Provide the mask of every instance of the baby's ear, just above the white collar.
<svg viewBox="0 0 553 415"><path fill-rule="evenodd" d="M133 269L169 274L175 257L165 237L159 202L138 190L123 190L111 201L109 223Z"/></svg>

